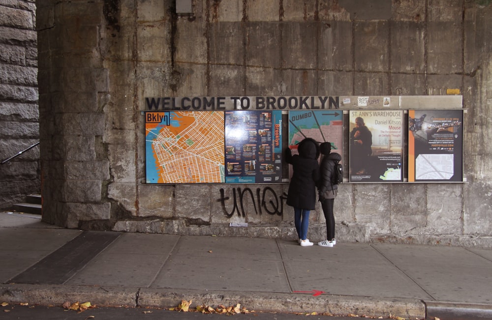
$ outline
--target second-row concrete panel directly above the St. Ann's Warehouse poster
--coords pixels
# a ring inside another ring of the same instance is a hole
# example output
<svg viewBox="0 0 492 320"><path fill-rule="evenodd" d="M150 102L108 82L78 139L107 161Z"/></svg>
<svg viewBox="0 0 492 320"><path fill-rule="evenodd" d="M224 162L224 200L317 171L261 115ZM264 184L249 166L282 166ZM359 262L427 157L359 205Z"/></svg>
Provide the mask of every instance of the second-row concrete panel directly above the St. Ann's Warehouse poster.
<svg viewBox="0 0 492 320"><path fill-rule="evenodd" d="M354 28L355 70L389 71L388 22L356 22ZM375 94L374 91L371 92Z"/></svg>

